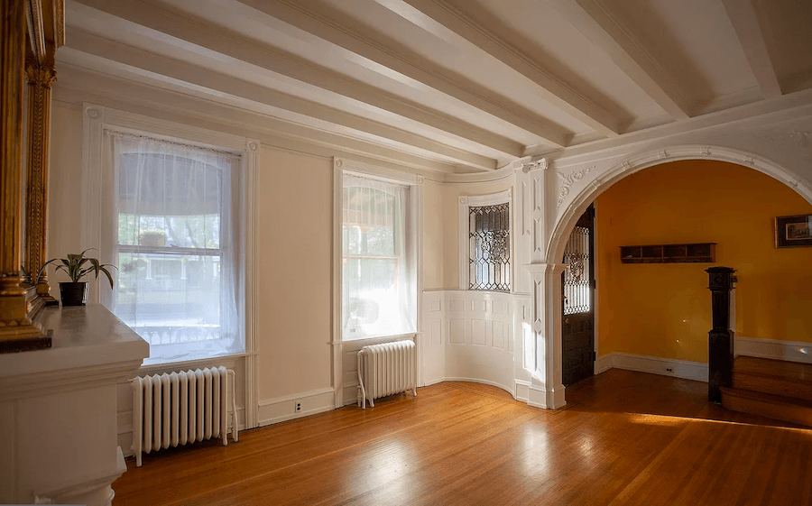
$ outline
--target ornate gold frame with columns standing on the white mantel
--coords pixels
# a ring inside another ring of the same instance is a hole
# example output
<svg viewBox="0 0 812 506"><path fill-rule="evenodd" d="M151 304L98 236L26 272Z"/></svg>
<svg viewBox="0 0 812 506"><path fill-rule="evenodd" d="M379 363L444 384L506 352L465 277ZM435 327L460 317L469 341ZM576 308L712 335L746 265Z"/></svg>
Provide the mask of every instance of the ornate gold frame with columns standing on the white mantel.
<svg viewBox="0 0 812 506"><path fill-rule="evenodd" d="M0 0L0 23L0 353L7 353L51 346L51 336L33 322L55 302L47 277L23 280L20 268L34 278L45 262L51 86L54 53L65 40L64 2ZM24 190L23 78L29 98Z"/></svg>

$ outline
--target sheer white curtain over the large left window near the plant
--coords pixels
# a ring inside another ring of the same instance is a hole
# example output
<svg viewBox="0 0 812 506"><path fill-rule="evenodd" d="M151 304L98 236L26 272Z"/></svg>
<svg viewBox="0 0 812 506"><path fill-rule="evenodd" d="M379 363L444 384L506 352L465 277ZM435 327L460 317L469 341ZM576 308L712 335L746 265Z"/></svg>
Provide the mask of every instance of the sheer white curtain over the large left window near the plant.
<svg viewBox="0 0 812 506"><path fill-rule="evenodd" d="M242 353L240 157L105 133L102 301L150 343L145 364Z"/></svg>

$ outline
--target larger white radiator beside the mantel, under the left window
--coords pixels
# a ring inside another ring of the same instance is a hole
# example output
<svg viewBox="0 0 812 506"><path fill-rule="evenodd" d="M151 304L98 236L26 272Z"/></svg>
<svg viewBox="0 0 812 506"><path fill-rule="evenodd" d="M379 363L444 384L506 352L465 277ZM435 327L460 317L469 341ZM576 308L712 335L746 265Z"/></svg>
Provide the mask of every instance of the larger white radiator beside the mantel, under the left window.
<svg viewBox="0 0 812 506"><path fill-rule="evenodd" d="M234 378L234 371L221 365L130 380L133 383L135 465L141 466L142 452L150 453L211 437L221 437L223 446L226 446L229 411L232 438L238 441ZM227 403L229 392L230 410Z"/></svg>

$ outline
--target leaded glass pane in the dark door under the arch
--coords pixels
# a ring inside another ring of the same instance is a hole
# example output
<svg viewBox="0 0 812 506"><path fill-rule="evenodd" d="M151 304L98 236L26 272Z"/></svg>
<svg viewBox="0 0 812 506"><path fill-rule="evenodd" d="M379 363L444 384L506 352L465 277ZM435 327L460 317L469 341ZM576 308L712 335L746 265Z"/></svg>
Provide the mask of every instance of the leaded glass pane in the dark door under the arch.
<svg viewBox="0 0 812 506"><path fill-rule="evenodd" d="M592 308L589 280L589 229L576 226L564 250L564 314L588 313Z"/></svg>

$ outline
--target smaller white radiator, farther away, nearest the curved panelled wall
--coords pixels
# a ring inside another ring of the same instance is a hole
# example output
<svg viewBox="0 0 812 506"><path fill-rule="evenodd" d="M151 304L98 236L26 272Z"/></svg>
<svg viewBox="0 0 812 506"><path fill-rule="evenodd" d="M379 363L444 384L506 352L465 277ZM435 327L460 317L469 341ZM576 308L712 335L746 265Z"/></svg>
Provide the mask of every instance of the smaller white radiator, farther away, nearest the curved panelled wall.
<svg viewBox="0 0 812 506"><path fill-rule="evenodd" d="M411 390L417 397L417 357L413 341L369 345L358 352L358 406L366 400Z"/></svg>

